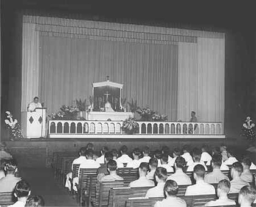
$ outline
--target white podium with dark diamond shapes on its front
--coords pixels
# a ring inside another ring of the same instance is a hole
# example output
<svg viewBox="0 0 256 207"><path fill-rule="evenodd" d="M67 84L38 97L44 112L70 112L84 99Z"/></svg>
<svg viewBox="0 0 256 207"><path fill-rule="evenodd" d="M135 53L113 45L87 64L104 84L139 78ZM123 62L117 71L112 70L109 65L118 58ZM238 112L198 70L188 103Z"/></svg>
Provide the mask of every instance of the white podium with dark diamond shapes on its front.
<svg viewBox="0 0 256 207"><path fill-rule="evenodd" d="M34 112L21 112L21 130L24 138L46 136L46 108L37 108Z"/></svg>

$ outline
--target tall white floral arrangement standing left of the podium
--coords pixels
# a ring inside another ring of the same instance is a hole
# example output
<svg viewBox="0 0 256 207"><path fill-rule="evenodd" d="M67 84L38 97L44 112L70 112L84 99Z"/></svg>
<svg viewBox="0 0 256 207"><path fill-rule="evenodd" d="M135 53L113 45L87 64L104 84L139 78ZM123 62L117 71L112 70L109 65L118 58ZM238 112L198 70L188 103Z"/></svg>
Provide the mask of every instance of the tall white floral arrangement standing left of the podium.
<svg viewBox="0 0 256 207"><path fill-rule="evenodd" d="M16 120L16 118L13 119L12 114L8 110L5 112L5 114L7 114L7 116L4 122L7 124L10 140L13 141L23 138L23 135L21 134L21 126L18 123L18 120Z"/></svg>

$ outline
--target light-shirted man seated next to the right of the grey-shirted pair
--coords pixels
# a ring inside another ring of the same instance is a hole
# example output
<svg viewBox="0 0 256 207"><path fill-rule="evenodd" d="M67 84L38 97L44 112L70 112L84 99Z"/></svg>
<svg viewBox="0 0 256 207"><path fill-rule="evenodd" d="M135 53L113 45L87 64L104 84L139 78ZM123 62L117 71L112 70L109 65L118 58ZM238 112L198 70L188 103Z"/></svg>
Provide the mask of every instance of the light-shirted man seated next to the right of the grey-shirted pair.
<svg viewBox="0 0 256 207"><path fill-rule="evenodd" d="M149 165L146 162L140 163L140 167L138 169L139 172L139 178L138 180L134 180L129 184L129 187L146 187L146 186L155 186L155 183L152 180L149 180L146 177L146 174L148 172Z"/></svg>

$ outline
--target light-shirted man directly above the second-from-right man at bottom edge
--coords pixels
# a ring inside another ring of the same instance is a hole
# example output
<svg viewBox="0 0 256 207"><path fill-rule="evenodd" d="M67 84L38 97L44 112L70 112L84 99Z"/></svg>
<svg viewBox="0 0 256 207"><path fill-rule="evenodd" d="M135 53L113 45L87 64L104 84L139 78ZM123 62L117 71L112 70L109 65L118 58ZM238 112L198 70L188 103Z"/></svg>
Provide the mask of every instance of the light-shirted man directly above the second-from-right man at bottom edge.
<svg viewBox="0 0 256 207"><path fill-rule="evenodd" d="M205 175L204 181L207 183L219 183L220 180L229 180L229 178L221 172L221 154L214 154L212 157L213 171Z"/></svg>

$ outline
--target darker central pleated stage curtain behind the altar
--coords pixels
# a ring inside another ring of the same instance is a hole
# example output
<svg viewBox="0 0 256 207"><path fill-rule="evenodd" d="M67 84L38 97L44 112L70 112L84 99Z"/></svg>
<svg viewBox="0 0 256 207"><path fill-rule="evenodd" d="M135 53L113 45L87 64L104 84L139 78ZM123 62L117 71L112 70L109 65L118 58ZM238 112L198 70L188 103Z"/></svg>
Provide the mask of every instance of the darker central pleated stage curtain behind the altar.
<svg viewBox="0 0 256 207"><path fill-rule="evenodd" d="M40 36L38 95L57 112L92 95L92 83L124 84L122 97L177 120L178 46Z"/></svg>

